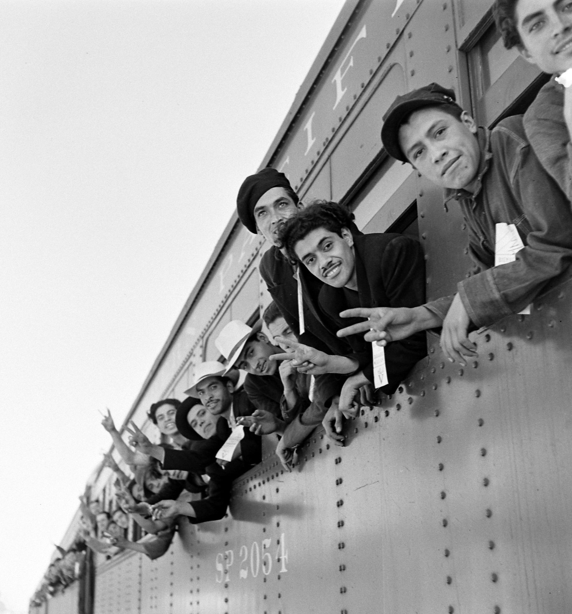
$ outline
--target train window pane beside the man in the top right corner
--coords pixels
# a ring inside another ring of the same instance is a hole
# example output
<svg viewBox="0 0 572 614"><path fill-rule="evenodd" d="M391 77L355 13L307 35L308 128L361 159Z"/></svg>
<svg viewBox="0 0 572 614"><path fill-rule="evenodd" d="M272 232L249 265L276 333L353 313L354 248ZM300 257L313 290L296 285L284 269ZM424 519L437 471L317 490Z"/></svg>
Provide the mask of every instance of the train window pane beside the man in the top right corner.
<svg viewBox="0 0 572 614"><path fill-rule="evenodd" d="M550 76L516 49L504 49L492 17L490 21L468 52L468 65L473 115L479 125L492 127L503 117L524 113Z"/></svg>

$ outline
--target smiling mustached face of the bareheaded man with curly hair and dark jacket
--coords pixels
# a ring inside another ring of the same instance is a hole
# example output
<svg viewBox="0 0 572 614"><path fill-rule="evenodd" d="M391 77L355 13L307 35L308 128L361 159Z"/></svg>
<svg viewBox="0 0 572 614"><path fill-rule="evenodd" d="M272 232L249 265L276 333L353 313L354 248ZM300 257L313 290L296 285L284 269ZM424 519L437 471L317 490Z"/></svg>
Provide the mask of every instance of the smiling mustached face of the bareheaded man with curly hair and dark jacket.
<svg viewBox="0 0 572 614"><path fill-rule="evenodd" d="M320 281L334 288L355 286L354 238L347 228L342 236L316 228L300 239L294 252L307 270Z"/></svg>

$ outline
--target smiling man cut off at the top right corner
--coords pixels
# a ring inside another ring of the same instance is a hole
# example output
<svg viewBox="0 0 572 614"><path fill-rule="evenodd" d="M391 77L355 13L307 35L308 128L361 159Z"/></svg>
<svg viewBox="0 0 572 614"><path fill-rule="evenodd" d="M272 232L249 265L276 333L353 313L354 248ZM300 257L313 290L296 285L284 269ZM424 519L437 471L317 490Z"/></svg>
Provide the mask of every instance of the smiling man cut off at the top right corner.
<svg viewBox="0 0 572 614"><path fill-rule="evenodd" d="M497 0L493 13L504 47L517 47L527 62L553 75L528 107L524 130L546 172L571 200L572 87L555 77L572 68L572 2Z"/></svg>

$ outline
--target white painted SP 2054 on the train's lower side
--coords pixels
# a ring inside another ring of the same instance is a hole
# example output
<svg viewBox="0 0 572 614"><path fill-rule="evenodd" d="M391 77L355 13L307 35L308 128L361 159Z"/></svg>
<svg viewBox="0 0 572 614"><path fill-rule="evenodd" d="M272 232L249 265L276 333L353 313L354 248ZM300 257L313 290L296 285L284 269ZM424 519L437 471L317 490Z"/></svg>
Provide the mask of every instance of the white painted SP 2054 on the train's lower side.
<svg viewBox="0 0 572 614"><path fill-rule="evenodd" d="M271 554L272 540L270 538L263 539L260 542L252 542L250 548L246 545L242 545L238 553L238 570L239 580L246 580L249 577L257 578L258 574L262 572L264 575L269 575L272 571L272 554ZM288 571L286 564L288 562L288 550L286 549L286 542L284 533L280 535L280 539L277 540L276 548L276 566L279 566L279 573L286 573ZM223 581L229 582L233 572L230 568L234 564L234 551L226 550L225 552L219 552L215 558L215 580L220 584Z"/></svg>

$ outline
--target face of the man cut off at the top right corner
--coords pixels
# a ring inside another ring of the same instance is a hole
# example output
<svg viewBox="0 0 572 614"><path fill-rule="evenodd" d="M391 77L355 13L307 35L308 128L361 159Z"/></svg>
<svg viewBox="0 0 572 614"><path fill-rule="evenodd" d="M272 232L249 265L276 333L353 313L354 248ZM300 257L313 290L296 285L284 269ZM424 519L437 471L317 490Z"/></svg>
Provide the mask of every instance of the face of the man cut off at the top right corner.
<svg viewBox="0 0 572 614"><path fill-rule="evenodd" d="M519 0L514 12L520 55L544 72L572 68L572 2Z"/></svg>

